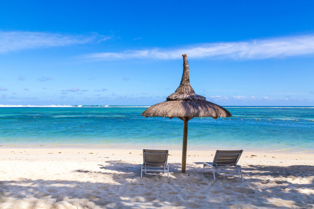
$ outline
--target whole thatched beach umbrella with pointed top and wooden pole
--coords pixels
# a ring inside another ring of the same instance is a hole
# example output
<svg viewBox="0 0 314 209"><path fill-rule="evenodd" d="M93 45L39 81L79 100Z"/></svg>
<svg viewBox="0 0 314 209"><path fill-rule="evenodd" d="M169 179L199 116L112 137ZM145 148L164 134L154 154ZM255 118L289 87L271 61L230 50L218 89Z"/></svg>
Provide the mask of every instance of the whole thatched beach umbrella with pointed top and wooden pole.
<svg viewBox="0 0 314 209"><path fill-rule="evenodd" d="M167 101L160 102L147 108L141 115L146 117L173 117L184 121L182 147L182 173L185 173L187 162L187 122L195 117L230 117L231 113L225 108L206 101L205 97L195 94L189 78L189 63L187 55L183 56L183 75L180 86L167 97Z"/></svg>

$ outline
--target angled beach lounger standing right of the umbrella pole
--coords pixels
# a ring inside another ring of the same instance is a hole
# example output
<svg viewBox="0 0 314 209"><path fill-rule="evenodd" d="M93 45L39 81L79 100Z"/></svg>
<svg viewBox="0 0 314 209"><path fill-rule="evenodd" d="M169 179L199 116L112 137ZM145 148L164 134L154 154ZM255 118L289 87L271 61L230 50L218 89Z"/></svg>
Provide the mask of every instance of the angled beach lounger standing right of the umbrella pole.
<svg viewBox="0 0 314 209"><path fill-rule="evenodd" d="M217 150L213 162L203 164L203 172L205 167L213 169L214 180L215 172L219 175L239 175L243 181L242 169L240 165L237 165L238 160L243 150Z"/></svg>

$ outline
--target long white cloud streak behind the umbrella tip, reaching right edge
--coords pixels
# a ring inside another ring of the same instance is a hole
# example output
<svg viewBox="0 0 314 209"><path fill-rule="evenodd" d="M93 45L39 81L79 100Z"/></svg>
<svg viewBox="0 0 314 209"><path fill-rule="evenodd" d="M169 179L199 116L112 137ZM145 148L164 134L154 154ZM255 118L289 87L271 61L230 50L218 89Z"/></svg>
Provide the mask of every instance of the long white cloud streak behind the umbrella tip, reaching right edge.
<svg viewBox="0 0 314 209"><path fill-rule="evenodd" d="M271 39L256 39L241 42L218 42L192 45L177 49L126 50L122 52L91 53L85 58L94 60L122 59L182 59L187 54L190 58L212 59L267 59L314 54L314 35L290 36Z"/></svg>

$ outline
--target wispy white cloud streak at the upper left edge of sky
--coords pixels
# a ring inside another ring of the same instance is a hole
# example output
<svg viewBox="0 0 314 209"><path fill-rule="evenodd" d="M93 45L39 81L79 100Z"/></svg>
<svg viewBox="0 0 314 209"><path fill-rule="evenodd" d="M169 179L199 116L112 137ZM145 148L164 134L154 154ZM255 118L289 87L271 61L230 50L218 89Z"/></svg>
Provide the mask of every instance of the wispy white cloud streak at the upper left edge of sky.
<svg viewBox="0 0 314 209"><path fill-rule="evenodd" d="M109 38L97 33L69 35L27 31L0 31L0 54L24 49L85 44L93 40L104 41Z"/></svg>

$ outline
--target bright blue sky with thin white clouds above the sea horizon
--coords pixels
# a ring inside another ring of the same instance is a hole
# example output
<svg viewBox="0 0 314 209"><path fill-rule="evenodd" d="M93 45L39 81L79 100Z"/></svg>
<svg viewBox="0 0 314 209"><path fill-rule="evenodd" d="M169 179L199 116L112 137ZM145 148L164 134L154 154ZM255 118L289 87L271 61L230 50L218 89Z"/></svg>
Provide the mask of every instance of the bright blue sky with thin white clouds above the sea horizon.
<svg viewBox="0 0 314 209"><path fill-rule="evenodd" d="M314 106L313 1L1 1L0 104Z"/></svg>

